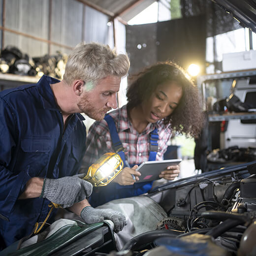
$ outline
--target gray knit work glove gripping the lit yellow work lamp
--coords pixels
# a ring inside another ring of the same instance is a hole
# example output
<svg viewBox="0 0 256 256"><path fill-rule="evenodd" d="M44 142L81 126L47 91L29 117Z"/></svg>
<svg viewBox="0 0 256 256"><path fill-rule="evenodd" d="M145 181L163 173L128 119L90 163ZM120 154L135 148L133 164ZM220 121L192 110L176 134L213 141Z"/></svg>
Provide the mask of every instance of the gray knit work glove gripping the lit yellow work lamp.
<svg viewBox="0 0 256 256"><path fill-rule="evenodd" d="M93 191L93 185L83 180L85 174L77 174L60 179L44 179L44 186L40 197L45 197L53 203L60 204L63 208L89 197Z"/></svg>

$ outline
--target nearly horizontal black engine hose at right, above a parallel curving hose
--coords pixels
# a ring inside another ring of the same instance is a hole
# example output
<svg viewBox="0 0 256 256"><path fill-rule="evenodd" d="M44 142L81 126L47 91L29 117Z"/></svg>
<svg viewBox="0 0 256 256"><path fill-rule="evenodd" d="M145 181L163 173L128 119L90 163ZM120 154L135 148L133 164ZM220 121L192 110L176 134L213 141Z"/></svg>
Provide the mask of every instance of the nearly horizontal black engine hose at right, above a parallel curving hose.
<svg viewBox="0 0 256 256"><path fill-rule="evenodd" d="M244 223L246 221L248 221L248 217L246 215L242 215L242 214L238 214L238 213L226 213L226 212L221 212L221 211L202 212L200 216L205 219L213 219L213 220L217 220L217 221L225 221L228 219L239 220Z"/></svg>

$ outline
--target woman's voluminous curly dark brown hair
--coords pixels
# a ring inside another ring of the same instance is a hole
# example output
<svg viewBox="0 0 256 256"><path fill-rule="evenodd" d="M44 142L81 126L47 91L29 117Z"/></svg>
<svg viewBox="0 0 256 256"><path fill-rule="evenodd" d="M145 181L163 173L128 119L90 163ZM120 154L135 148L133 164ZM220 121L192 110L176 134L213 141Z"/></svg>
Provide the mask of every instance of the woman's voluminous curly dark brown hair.
<svg viewBox="0 0 256 256"><path fill-rule="evenodd" d="M128 111L148 100L158 86L166 82L176 82L182 87L182 97L173 113L164 119L173 131L186 136L197 137L204 124L201 97L197 86L179 65L160 62L146 67L133 75L127 89Z"/></svg>

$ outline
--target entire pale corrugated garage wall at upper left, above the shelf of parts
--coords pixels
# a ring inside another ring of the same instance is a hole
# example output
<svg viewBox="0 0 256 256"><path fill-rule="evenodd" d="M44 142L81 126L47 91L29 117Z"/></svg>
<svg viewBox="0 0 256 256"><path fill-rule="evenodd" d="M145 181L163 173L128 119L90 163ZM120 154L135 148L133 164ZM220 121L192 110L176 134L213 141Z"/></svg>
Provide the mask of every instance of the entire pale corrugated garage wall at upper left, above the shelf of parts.
<svg viewBox="0 0 256 256"><path fill-rule="evenodd" d="M69 53L81 41L108 43L108 16L77 0L0 0L0 48L31 57Z"/></svg>

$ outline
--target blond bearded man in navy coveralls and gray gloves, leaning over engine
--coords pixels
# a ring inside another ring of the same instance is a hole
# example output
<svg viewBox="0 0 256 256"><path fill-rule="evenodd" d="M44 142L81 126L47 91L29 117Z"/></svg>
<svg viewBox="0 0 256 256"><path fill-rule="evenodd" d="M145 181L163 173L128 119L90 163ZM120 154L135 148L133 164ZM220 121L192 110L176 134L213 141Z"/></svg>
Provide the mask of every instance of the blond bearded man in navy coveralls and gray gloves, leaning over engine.
<svg viewBox="0 0 256 256"><path fill-rule="evenodd" d="M117 108L116 94L128 72L126 55L81 43L71 52L64 79L0 92L0 248L29 235L46 218L50 202L88 223L109 219L117 232L125 216L90 206L92 185L78 173L85 153L85 113L103 119ZM54 214L48 223L53 222Z"/></svg>

